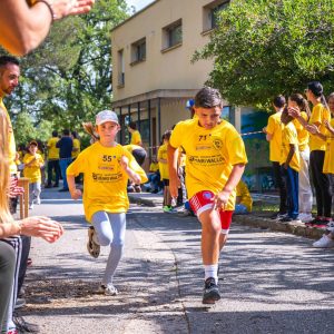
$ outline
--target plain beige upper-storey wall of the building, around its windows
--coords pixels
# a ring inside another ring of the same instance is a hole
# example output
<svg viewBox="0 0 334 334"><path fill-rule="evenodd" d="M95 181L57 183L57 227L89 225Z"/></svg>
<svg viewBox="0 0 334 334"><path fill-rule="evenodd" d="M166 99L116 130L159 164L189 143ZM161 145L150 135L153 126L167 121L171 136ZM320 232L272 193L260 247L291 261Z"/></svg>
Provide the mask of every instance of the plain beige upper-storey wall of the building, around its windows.
<svg viewBox="0 0 334 334"><path fill-rule="evenodd" d="M111 32L114 101L156 89L199 89L212 70L212 61L190 63L208 42L203 35L203 7L210 0L158 0ZM163 49L163 28L183 20L183 45ZM146 60L134 66L131 43L146 37ZM118 88L118 51L124 49L125 87Z"/></svg>

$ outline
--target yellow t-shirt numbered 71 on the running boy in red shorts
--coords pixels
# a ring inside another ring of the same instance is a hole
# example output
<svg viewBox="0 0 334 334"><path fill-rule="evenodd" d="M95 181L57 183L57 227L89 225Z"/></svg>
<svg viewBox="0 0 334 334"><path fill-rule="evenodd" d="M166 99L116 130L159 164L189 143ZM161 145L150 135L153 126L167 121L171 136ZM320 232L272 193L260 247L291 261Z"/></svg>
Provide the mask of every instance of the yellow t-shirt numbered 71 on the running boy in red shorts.
<svg viewBox="0 0 334 334"><path fill-rule="evenodd" d="M186 187L189 198L203 190L218 194L229 178L233 166L247 164L244 141L228 121L205 129L197 119L177 124L169 140L175 148L186 151ZM228 198L226 210L235 206L235 190Z"/></svg>

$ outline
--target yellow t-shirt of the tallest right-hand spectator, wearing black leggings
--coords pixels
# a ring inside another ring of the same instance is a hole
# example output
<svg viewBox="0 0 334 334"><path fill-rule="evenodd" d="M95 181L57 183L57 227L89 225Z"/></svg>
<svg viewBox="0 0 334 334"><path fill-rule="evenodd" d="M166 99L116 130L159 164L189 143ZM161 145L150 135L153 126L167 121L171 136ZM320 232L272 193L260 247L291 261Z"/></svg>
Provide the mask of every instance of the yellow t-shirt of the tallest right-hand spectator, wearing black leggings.
<svg viewBox="0 0 334 334"><path fill-rule="evenodd" d="M331 114L322 104L317 104L312 109L310 124L320 122L321 126L318 129L323 135L326 136L327 129L324 125L325 120L331 121ZM318 138L315 135L311 135L310 150L326 150L326 143L322 138Z"/></svg>

